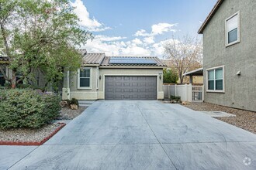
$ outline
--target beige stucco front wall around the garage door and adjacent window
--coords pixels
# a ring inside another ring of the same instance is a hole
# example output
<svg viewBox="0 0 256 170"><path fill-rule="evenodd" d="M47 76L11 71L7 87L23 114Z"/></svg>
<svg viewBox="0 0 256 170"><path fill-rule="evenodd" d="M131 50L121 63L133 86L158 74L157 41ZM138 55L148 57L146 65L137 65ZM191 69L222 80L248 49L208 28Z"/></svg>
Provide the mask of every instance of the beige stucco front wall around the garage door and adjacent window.
<svg viewBox="0 0 256 170"><path fill-rule="evenodd" d="M97 67L92 67L92 89L78 89L77 73L70 73L70 97L78 100L97 100L105 98L105 76L157 76L157 99L164 99L163 77L159 78L159 73L163 73L163 69L108 69L101 68L97 73ZM99 80L99 76L102 76ZM162 76L162 75L161 75ZM67 76L65 76L67 77ZM99 89L97 89L97 80L99 80ZM64 79L64 87L67 87L67 78Z"/></svg>

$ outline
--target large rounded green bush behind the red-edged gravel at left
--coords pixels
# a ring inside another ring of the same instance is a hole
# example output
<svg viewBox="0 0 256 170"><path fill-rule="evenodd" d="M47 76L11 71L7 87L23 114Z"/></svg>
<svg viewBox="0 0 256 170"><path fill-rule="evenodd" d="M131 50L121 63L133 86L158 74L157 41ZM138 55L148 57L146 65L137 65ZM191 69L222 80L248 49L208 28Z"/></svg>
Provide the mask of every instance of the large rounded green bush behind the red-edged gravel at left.
<svg viewBox="0 0 256 170"><path fill-rule="evenodd" d="M58 117L61 97L31 89L0 89L0 128L40 128Z"/></svg>

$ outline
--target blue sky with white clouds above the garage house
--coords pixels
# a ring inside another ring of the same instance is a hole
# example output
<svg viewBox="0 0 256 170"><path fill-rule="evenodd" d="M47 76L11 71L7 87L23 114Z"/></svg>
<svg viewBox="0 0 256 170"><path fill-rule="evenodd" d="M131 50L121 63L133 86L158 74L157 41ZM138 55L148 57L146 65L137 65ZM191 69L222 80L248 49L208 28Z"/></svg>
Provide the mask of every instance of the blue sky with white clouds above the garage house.
<svg viewBox="0 0 256 170"><path fill-rule="evenodd" d="M95 37L81 49L106 56L164 55L164 43L197 32L216 0L73 0L79 25Z"/></svg>

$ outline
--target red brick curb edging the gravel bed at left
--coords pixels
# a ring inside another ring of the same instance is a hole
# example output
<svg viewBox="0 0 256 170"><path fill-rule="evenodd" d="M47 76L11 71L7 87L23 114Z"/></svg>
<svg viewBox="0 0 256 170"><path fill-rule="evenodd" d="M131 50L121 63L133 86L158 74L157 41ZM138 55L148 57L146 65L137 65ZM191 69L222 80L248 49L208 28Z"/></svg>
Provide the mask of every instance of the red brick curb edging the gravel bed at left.
<svg viewBox="0 0 256 170"><path fill-rule="evenodd" d="M0 141L0 145L23 145L23 146L39 146L43 145L44 142L48 141L50 138L54 136L54 134L57 134L58 131L61 130L66 124L65 123L57 123L61 124L61 126L55 131L53 131L49 136L44 138L42 141Z"/></svg>

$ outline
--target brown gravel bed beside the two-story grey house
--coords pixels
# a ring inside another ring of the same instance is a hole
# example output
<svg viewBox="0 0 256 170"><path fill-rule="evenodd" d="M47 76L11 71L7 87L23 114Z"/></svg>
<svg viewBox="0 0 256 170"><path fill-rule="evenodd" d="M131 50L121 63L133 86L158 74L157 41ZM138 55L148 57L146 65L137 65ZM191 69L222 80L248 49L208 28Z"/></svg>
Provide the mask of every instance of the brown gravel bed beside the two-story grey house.
<svg viewBox="0 0 256 170"><path fill-rule="evenodd" d="M216 119L225 121L237 126L238 128L243 128L244 130L251 131L256 134L256 112L209 103L191 103L185 105L185 107L189 107L190 109L197 111L224 111L229 114L235 114L236 117L216 117Z"/></svg>

